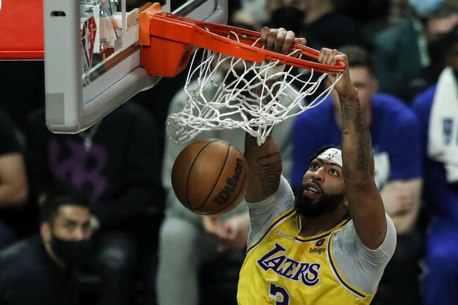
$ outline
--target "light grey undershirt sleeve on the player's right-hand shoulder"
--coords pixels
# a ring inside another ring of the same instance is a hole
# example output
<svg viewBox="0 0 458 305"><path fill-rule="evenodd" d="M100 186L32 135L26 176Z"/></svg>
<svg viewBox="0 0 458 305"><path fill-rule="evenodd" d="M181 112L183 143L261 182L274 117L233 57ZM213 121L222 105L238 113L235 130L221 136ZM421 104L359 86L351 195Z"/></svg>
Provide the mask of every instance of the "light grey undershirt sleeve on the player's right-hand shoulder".
<svg viewBox="0 0 458 305"><path fill-rule="evenodd" d="M354 230L353 221L335 235L333 255L335 263L344 279L355 288L373 294L382 278L383 271L396 248L396 229L387 217L387 233L377 249L371 250L363 245Z"/></svg>

